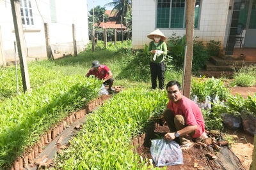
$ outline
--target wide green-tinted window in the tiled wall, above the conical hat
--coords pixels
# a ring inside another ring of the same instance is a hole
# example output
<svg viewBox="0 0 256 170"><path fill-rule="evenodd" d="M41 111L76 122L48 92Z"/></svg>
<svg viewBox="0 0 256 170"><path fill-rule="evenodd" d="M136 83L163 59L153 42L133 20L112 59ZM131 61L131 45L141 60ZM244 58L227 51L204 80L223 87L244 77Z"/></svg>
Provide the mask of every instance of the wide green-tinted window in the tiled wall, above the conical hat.
<svg viewBox="0 0 256 170"><path fill-rule="evenodd" d="M201 0L195 3L195 28L198 28ZM185 28L186 0L158 0L157 28Z"/></svg>

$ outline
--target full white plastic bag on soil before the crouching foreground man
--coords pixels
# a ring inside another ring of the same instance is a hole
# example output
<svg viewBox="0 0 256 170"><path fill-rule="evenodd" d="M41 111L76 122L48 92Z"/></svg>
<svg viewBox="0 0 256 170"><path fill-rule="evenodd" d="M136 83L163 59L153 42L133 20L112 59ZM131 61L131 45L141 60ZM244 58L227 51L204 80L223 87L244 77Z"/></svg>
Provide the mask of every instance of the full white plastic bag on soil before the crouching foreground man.
<svg viewBox="0 0 256 170"><path fill-rule="evenodd" d="M151 143L150 153L157 167L183 164L182 150L175 141L154 139Z"/></svg>

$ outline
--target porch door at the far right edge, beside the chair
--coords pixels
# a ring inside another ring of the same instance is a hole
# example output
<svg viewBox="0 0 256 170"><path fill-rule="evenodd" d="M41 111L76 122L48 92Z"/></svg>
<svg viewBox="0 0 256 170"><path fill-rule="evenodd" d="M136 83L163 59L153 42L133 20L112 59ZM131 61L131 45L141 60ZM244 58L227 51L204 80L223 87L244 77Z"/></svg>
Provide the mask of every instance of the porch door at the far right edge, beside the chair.
<svg viewBox="0 0 256 170"><path fill-rule="evenodd" d="M256 0L250 1L245 29L244 47L256 48Z"/></svg>

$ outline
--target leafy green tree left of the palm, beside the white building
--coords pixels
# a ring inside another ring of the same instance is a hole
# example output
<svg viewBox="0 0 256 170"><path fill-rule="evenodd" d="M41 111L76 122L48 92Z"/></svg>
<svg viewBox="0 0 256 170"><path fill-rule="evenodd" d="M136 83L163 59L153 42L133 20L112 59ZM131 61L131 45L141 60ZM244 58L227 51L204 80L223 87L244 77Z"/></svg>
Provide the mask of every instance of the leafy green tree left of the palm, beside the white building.
<svg viewBox="0 0 256 170"><path fill-rule="evenodd" d="M105 14L106 8L101 7L101 6L96 6L94 8L94 23L97 24L98 26L100 25L101 22L107 22L109 20L109 16ZM92 28L93 25L93 8L89 11L90 16L88 16L88 23L89 23L89 28Z"/></svg>

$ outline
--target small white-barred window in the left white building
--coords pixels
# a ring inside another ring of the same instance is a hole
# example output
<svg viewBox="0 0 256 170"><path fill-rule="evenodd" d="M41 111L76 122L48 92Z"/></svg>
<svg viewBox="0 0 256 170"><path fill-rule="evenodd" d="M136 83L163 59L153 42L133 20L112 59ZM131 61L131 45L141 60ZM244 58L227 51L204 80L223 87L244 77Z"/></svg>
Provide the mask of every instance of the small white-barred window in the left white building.
<svg viewBox="0 0 256 170"><path fill-rule="evenodd" d="M23 25L34 25L30 0L20 0L20 14Z"/></svg>

